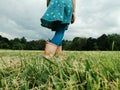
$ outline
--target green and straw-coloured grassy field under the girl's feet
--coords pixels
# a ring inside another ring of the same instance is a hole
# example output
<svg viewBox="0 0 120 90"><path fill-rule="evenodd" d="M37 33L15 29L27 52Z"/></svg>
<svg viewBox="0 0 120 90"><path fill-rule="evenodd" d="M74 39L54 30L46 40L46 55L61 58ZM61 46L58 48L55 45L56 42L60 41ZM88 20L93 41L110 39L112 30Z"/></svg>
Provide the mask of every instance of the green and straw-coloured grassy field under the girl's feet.
<svg viewBox="0 0 120 90"><path fill-rule="evenodd" d="M0 90L120 90L120 52L0 51Z"/></svg>

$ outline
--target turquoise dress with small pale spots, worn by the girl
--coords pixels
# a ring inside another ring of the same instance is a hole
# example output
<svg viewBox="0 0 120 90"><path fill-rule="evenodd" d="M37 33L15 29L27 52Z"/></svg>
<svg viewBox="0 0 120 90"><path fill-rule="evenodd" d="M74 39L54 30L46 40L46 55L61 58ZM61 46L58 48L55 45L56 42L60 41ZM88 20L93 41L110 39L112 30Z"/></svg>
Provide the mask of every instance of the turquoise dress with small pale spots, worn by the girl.
<svg viewBox="0 0 120 90"><path fill-rule="evenodd" d="M50 0L47 10L41 18L41 25L55 31L57 25L66 24L67 30L72 12L72 0Z"/></svg>

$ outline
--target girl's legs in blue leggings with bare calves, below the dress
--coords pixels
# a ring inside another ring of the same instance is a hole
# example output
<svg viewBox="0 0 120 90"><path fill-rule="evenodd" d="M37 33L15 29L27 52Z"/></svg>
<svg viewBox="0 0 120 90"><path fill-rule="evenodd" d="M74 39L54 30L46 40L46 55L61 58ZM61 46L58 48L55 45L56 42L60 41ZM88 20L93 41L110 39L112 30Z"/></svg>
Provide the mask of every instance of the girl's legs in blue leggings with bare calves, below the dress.
<svg viewBox="0 0 120 90"><path fill-rule="evenodd" d="M53 57L55 52L60 55L62 51L62 39L64 36L64 32L66 30L66 25L60 25L56 28L56 32L54 37L52 38L51 42L46 42L44 57L50 58Z"/></svg>

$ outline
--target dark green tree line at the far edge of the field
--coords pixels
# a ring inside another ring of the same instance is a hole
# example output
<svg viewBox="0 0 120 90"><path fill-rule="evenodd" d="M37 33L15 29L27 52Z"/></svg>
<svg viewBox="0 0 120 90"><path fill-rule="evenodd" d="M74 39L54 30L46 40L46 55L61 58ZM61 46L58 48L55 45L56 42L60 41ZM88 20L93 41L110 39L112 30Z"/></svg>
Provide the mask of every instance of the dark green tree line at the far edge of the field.
<svg viewBox="0 0 120 90"><path fill-rule="evenodd" d="M44 50L45 40L27 41L25 37L8 38L0 35L0 49L12 50ZM120 50L119 34L103 34L98 38L75 37L73 40L63 40L64 50Z"/></svg>

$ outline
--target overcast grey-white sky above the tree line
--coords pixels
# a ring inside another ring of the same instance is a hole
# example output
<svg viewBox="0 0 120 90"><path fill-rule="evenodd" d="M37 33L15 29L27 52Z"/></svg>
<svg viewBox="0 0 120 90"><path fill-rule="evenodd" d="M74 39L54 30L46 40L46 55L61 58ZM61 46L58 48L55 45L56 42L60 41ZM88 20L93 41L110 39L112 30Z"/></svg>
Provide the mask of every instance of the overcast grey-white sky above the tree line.
<svg viewBox="0 0 120 90"><path fill-rule="evenodd" d="M65 40L120 34L120 0L76 2L76 21L69 25ZM9 39L51 39L54 32L40 25L46 9L46 0L0 0L0 35Z"/></svg>

